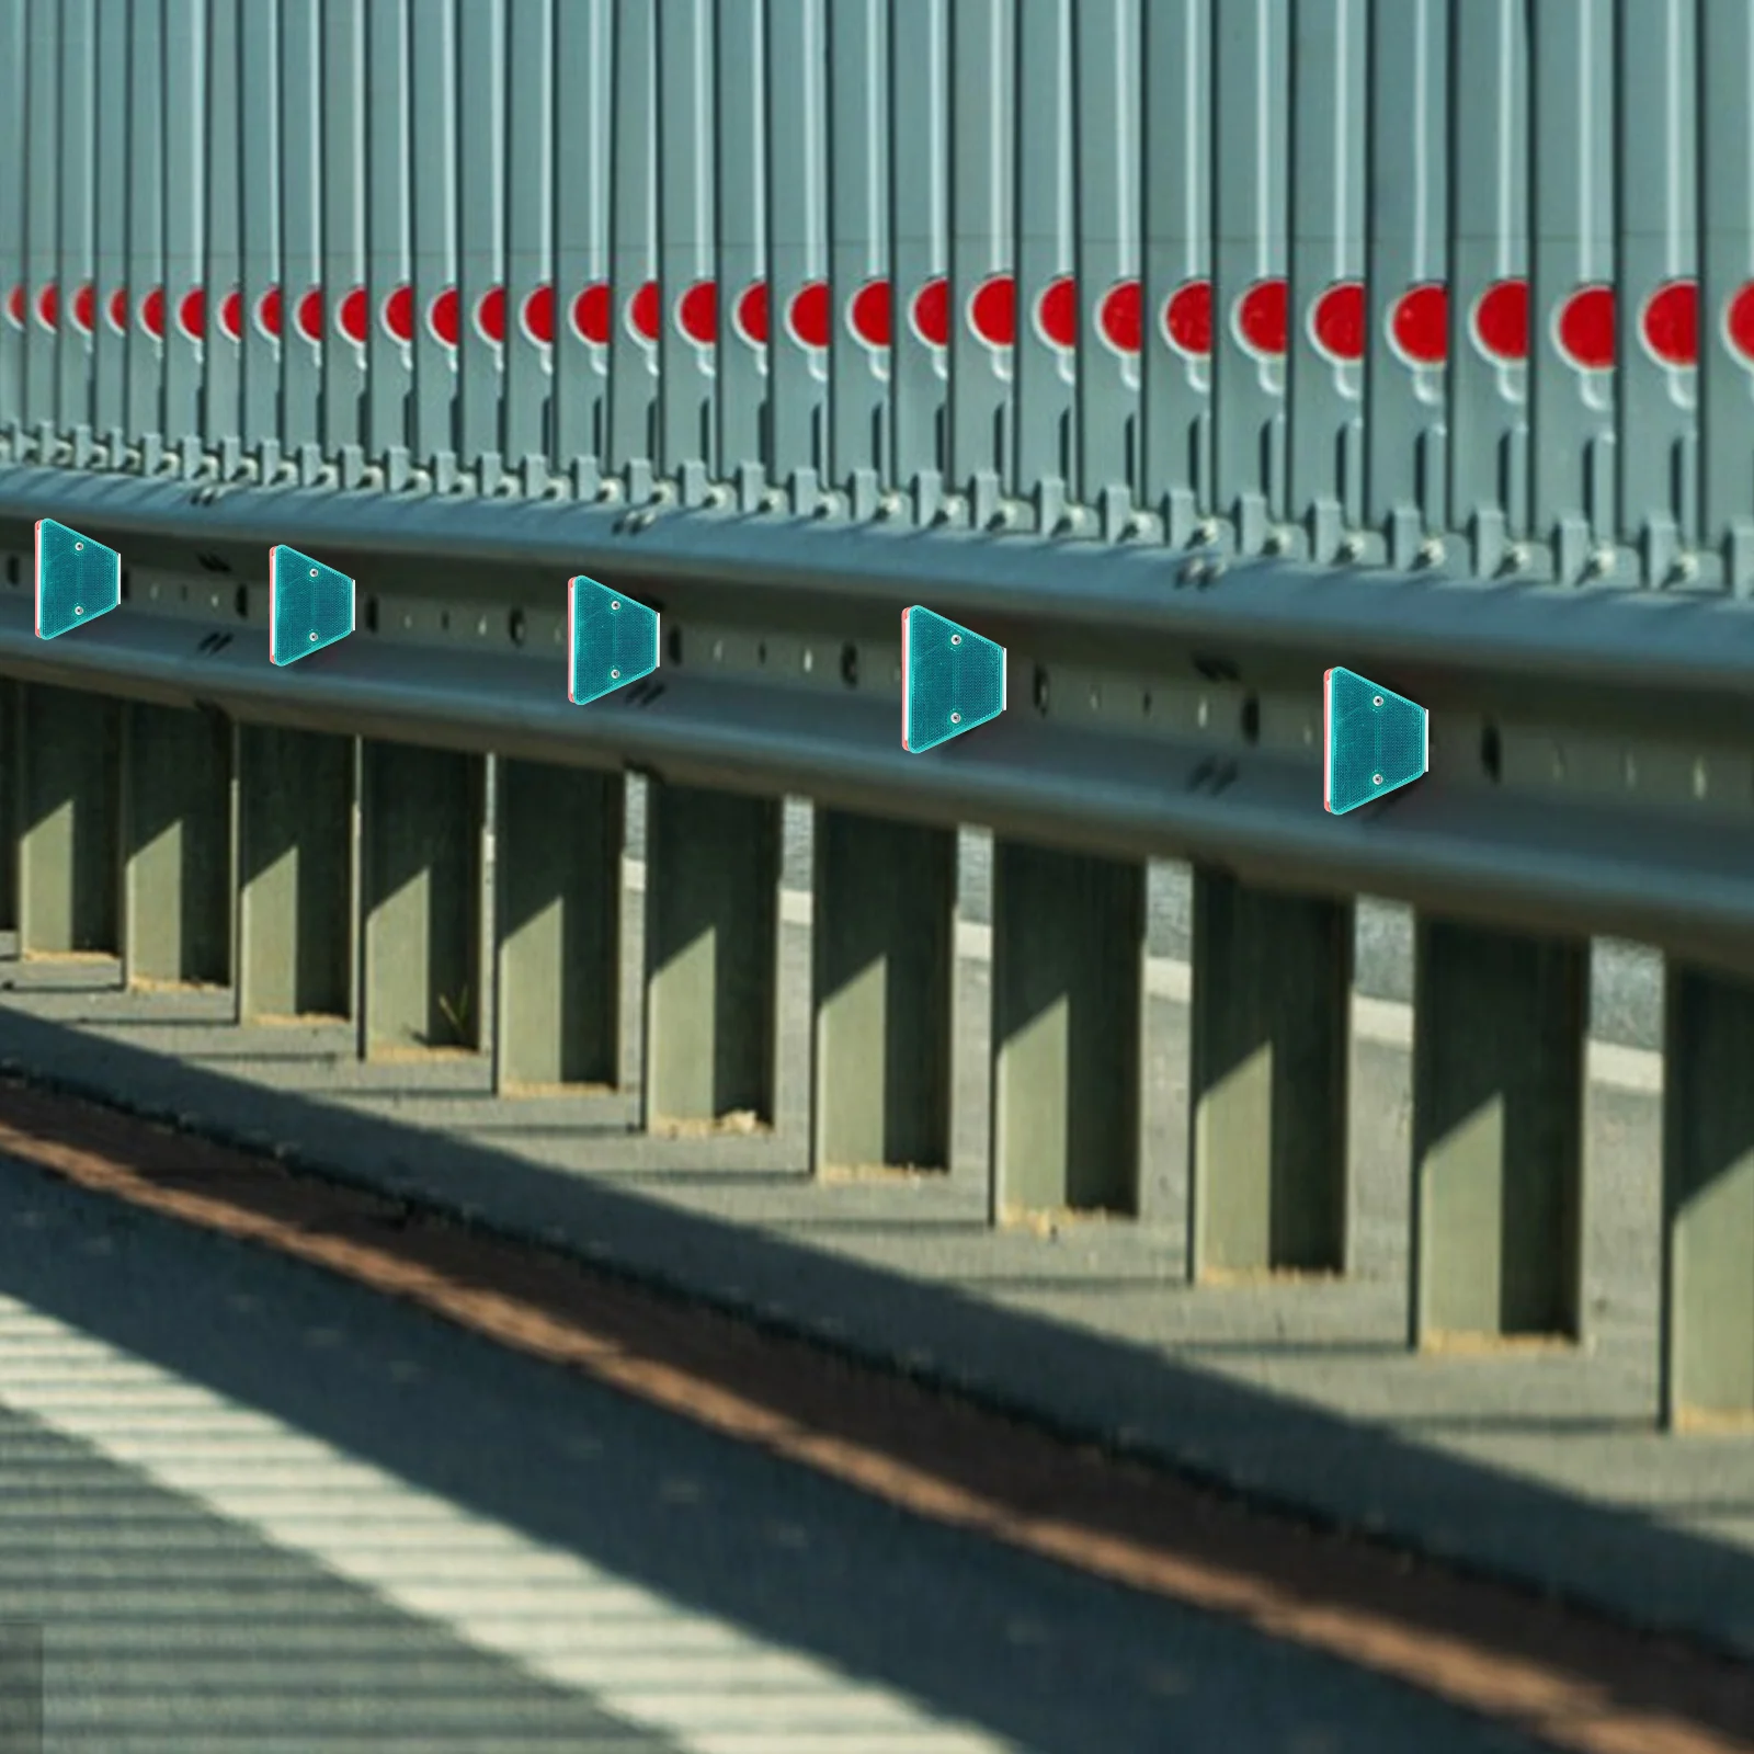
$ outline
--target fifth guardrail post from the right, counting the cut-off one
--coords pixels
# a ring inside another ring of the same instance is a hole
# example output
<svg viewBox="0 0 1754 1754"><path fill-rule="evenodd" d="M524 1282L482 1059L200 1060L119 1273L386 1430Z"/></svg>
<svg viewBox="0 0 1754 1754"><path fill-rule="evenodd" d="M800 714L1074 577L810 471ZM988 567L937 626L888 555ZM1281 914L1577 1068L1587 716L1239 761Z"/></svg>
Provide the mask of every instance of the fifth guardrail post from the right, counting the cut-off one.
<svg viewBox="0 0 1754 1754"><path fill-rule="evenodd" d="M819 809L812 921L812 1170L947 1170L956 835Z"/></svg>

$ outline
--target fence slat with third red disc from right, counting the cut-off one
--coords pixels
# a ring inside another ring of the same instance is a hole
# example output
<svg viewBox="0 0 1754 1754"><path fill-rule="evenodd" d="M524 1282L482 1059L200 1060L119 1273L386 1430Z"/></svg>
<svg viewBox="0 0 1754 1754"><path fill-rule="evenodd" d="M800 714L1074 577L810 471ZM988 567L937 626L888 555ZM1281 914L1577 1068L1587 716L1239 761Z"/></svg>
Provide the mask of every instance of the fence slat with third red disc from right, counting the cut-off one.
<svg viewBox="0 0 1754 1754"><path fill-rule="evenodd" d="M1612 0L1529 11L1531 521L1561 582L1612 570L1614 37ZM1586 302L1577 295L1587 293ZM1603 296L1605 295L1605 296ZM1570 346L1568 346L1570 344Z"/></svg>

